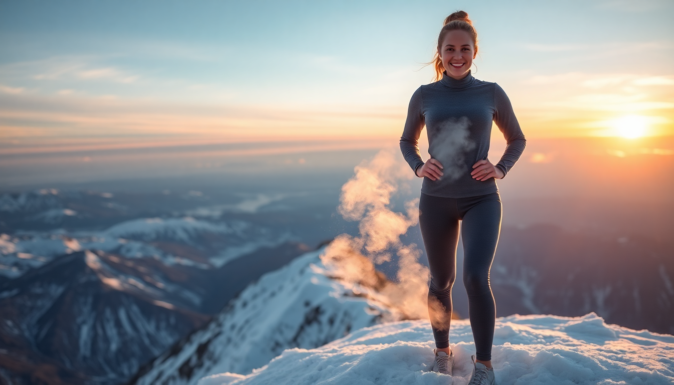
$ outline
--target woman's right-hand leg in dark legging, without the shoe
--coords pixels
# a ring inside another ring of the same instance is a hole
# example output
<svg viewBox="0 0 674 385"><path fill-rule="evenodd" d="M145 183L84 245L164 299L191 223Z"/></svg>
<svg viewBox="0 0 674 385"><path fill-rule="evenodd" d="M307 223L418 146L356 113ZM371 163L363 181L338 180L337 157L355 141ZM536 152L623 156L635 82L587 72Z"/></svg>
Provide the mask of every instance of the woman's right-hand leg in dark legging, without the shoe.
<svg viewBox="0 0 674 385"><path fill-rule="evenodd" d="M475 355L480 361L491 360L494 339L496 305L489 285L489 270L501 232L501 210L499 200L479 202L464 214L461 225L468 316L475 340Z"/></svg>

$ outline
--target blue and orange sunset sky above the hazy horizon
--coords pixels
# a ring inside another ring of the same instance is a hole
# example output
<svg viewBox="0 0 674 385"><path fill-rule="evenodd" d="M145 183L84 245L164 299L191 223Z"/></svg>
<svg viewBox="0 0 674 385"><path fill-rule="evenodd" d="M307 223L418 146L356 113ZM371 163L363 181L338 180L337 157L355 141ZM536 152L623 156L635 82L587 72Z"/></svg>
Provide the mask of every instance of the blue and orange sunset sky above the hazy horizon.
<svg viewBox="0 0 674 385"><path fill-rule="evenodd" d="M0 152L395 140L456 9L527 138L674 134L672 1L1 1Z"/></svg>

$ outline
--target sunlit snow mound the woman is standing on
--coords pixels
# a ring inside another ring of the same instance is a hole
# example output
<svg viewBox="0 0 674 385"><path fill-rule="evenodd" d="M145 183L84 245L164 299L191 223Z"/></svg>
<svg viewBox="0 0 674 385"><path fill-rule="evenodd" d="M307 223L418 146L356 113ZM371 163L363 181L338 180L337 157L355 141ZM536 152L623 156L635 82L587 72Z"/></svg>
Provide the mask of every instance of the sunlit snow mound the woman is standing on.
<svg viewBox="0 0 674 385"><path fill-rule="evenodd" d="M216 374L198 385L467 384L474 354L468 320L452 322L454 377L429 372L425 320L362 328L316 349L287 349L251 374ZM672 384L674 336L607 325L594 313L497 319L492 363L508 384Z"/></svg>

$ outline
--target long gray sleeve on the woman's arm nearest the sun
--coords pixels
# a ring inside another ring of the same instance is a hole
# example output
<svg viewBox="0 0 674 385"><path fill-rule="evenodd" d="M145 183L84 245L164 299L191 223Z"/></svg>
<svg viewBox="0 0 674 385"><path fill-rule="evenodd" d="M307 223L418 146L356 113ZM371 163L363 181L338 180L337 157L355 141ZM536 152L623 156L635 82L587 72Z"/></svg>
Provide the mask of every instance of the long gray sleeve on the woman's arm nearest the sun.
<svg viewBox="0 0 674 385"><path fill-rule="evenodd" d="M495 167L498 167L503 172L503 177L505 177L520 158L522 152L524 152L526 139L524 138L522 129L520 129L520 123L518 123L515 113L512 111L508 95L505 94L503 88L498 84L495 84L494 88L494 105L496 110L494 113L494 123L496 123L503 133L506 142L503 156L501 156L501 160L499 160Z"/></svg>

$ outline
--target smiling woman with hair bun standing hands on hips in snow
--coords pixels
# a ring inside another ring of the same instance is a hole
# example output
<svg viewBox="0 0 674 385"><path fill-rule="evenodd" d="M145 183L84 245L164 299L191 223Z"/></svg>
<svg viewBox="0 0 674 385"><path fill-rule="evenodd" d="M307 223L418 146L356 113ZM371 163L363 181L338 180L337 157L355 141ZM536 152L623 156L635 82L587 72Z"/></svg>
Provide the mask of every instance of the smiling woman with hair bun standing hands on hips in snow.
<svg viewBox="0 0 674 385"><path fill-rule="evenodd" d="M501 231L495 179L510 171L526 140L503 89L470 73L478 44L468 13L454 12L444 24L433 61L436 82L412 94L400 149L417 177L424 178L419 225L431 270L429 314L437 348L433 371L451 375L454 365L449 330L461 220L464 285L477 355L477 359L471 357L474 369L469 384L494 384L491 345L496 307L489 269ZM495 165L487 158L492 121L508 143ZM431 156L427 162L417 144L424 125Z"/></svg>

